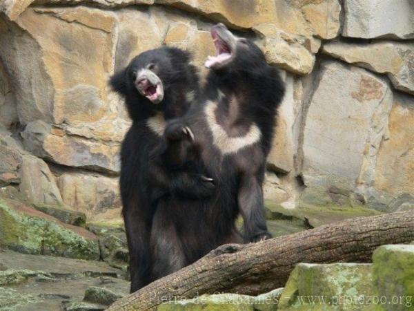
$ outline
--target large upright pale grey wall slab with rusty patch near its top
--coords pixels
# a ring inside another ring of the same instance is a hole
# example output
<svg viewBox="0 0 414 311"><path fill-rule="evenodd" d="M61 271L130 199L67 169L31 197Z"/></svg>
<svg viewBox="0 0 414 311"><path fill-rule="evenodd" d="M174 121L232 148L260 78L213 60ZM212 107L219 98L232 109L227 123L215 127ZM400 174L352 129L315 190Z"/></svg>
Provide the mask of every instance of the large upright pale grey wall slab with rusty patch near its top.
<svg viewBox="0 0 414 311"><path fill-rule="evenodd" d="M331 189L340 198L373 182L393 97L383 79L361 68L327 62L317 79L303 130L305 192Z"/></svg>

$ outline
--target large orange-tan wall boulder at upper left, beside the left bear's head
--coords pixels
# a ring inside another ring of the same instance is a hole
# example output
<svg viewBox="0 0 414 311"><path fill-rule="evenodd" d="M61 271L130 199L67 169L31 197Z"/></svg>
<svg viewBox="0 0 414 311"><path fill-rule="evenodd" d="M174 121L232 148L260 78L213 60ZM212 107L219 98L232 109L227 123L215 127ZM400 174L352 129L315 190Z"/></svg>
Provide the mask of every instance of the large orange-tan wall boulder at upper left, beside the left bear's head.
<svg viewBox="0 0 414 311"><path fill-rule="evenodd" d="M0 55L21 123L93 121L106 114L115 25L112 13L83 6L28 8L15 22L0 19L0 35L9 42Z"/></svg>

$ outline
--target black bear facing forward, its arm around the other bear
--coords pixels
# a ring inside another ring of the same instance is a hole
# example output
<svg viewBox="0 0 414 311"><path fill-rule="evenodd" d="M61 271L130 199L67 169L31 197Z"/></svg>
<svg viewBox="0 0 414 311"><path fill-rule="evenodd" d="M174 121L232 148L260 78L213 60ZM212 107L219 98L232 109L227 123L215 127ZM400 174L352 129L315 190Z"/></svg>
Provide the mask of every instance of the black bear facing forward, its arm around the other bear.
<svg viewBox="0 0 414 311"><path fill-rule="evenodd" d="M204 198L214 190L209 178L196 173L197 168L186 171L185 166L179 170L169 167L164 174L152 159L166 120L184 115L199 96L199 78L189 63L190 55L182 50L157 48L141 53L110 79L114 91L125 98L132 119L122 142L120 176L131 292L153 279L151 263L157 254L152 254L150 234L157 200L170 195L188 200Z"/></svg>

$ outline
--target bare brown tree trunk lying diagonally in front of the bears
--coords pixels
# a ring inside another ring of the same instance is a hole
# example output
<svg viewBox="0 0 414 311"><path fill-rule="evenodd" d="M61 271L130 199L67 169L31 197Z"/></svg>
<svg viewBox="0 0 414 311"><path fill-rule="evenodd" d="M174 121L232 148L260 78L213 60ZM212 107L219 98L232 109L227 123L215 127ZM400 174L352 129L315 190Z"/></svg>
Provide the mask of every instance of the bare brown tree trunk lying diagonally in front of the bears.
<svg viewBox="0 0 414 311"><path fill-rule="evenodd" d="M267 241L222 245L108 310L154 310L165 299L213 292L256 295L284 286L297 263L370 262L384 244L414 241L414 212L360 217Z"/></svg>

